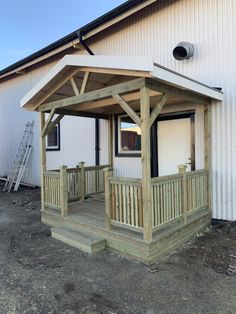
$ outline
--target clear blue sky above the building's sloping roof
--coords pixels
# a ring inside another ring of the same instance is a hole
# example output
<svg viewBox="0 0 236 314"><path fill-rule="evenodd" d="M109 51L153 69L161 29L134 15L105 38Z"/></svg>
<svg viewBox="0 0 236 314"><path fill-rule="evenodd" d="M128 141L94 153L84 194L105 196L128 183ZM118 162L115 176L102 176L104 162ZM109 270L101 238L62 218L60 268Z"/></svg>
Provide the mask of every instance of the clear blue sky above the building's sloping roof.
<svg viewBox="0 0 236 314"><path fill-rule="evenodd" d="M0 69L123 2L125 0L1 0Z"/></svg>

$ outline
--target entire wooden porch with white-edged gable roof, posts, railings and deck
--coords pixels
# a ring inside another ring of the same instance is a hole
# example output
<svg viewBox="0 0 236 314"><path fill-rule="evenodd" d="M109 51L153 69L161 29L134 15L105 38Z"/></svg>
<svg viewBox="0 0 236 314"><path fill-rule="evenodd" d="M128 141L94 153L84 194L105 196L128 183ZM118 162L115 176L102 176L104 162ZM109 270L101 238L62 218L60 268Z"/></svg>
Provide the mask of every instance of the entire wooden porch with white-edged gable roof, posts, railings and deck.
<svg viewBox="0 0 236 314"><path fill-rule="evenodd" d="M63 58L23 100L40 112L42 221L99 235L145 263L186 241L211 218L212 100L222 94L151 59ZM204 106L204 169L186 172L180 165L177 174L152 178L152 127L164 106L187 102ZM113 172L114 120L123 113L140 128L139 179ZM47 170L45 137L65 115L108 120L109 165ZM104 201L96 199L101 195Z"/></svg>

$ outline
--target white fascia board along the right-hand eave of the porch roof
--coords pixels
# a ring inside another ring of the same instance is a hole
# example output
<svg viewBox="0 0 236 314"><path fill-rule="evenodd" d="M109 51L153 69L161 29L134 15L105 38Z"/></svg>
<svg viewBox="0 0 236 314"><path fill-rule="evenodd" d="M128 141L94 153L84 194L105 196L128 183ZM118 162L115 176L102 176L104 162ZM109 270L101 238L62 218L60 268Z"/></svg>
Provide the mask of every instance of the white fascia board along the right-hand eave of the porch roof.
<svg viewBox="0 0 236 314"><path fill-rule="evenodd" d="M162 66L154 65L154 69L151 73L152 77L157 78L168 84L175 85L181 89L190 90L201 94L203 96L210 97L214 100L223 101L224 94L216 89L204 85L200 82L192 80L191 78L185 77L179 73L166 69Z"/></svg>

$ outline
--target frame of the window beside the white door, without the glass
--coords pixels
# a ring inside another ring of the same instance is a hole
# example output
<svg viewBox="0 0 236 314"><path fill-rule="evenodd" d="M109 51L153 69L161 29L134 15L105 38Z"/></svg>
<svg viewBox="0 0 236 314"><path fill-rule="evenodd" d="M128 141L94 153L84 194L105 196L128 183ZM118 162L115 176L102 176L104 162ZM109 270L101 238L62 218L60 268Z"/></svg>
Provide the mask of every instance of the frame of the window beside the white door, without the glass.
<svg viewBox="0 0 236 314"><path fill-rule="evenodd" d="M115 156L116 157L141 157L141 150L133 150L133 151L121 150L121 128L120 127L121 127L122 117L130 118L128 114L121 114L121 115L115 116ZM136 123L134 122L134 124Z"/></svg>

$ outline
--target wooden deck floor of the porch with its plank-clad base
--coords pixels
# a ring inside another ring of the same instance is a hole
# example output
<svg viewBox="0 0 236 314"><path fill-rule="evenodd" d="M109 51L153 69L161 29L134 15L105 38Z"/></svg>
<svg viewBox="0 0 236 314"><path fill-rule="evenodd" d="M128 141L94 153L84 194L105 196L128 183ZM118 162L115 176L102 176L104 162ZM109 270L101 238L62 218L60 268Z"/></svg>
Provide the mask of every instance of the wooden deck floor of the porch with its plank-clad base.
<svg viewBox="0 0 236 314"><path fill-rule="evenodd" d="M41 212L43 223L51 227L67 226L78 231L87 231L106 240L106 246L124 255L151 264L161 255L171 252L191 236L205 228L211 220L209 211L197 211L183 221L171 223L160 228L151 243L143 241L143 234L105 225L105 202L103 199L87 199L69 204L69 214L62 217L59 210L45 208Z"/></svg>

